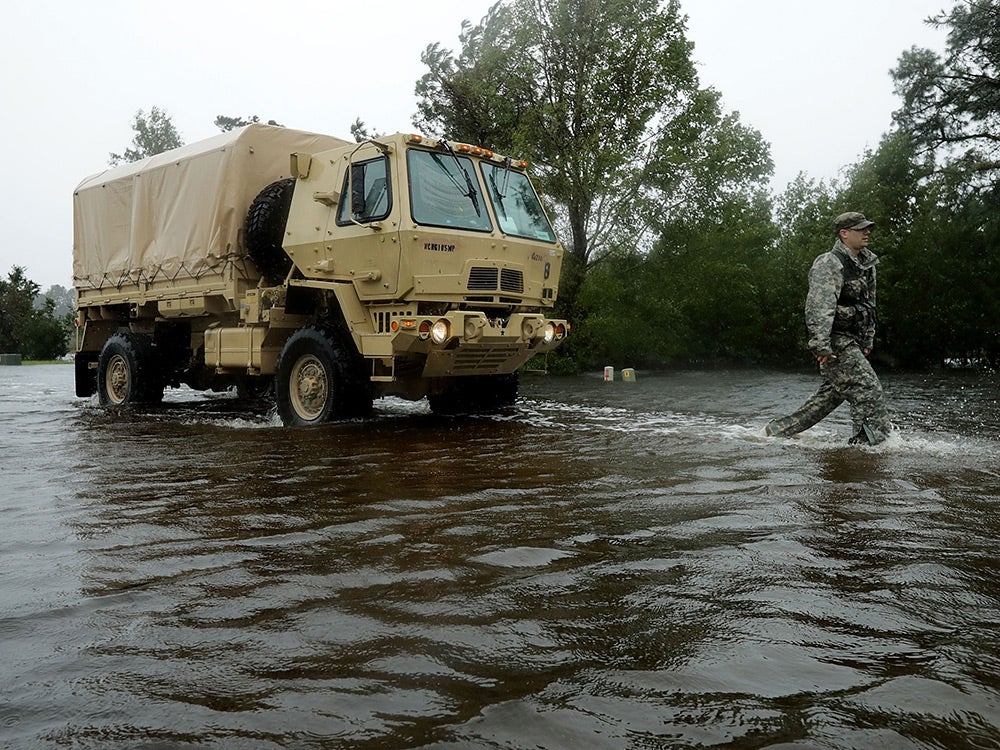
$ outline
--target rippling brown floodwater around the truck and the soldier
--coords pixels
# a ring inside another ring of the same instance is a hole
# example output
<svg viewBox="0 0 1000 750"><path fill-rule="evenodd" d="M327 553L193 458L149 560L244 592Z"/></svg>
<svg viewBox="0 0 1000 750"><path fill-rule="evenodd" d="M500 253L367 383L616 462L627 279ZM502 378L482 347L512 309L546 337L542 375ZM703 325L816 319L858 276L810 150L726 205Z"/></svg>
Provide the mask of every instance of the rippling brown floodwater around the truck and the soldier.
<svg viewBox="0 0 1000 750"><path fill-rule="evenodd" d="M523 381L285 429L0 368L0 746L1000 748L1000 385Z"/></svg>

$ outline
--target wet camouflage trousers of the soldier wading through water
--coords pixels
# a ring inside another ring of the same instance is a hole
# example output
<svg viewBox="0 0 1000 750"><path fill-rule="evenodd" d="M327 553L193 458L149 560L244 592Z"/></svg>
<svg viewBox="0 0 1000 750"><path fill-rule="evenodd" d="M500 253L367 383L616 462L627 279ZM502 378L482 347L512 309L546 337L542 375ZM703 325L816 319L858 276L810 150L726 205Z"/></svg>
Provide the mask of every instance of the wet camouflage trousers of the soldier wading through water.
<svg viewBox="0 0 1000 750"><path fill-rule="evenodd" d="M851 442L881 443L892 426L885 407L885 394L878 376L857 345L850 345L837 352L836 359L828 359L820 366L823 384L802 406L787 417L775 419L767 425L769 435L790 437L830 414L844 401L851 405L851 422L854 431Z"/></svg>

